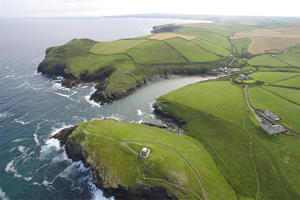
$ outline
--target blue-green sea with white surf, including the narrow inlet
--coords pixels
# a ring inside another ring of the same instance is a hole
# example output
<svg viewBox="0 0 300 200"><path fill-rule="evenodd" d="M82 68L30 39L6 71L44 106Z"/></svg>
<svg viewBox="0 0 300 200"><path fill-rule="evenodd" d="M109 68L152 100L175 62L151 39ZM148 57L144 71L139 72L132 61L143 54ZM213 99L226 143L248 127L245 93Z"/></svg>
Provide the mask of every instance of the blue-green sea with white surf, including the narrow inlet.
<svg viewBox="0 0 300 200"><path fill-rule="evenodd" d="M37 73L48 47L77 38L107 42L151 34L152 26L196 20L140 18L1 18L0 199L106 199L92 172L67 158L58 140L63 128L92 119L161 124L150 107L155 98L208 78L160 80L115 103L89 100L94 84L66 89ZM113 197L111 197L113 199Z"/></svg>

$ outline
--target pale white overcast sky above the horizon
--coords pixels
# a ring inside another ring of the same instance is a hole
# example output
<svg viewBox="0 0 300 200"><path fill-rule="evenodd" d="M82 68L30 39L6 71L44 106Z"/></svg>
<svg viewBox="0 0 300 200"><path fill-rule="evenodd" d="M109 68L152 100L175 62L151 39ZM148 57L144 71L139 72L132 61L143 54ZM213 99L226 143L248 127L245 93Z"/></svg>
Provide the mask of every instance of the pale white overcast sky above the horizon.
<svg viewBox="0 0 300 200"><path fill-rule="evenodd" d="M1 17L61 17L143 13L300 16L297 0L1 0Z"/></svg>

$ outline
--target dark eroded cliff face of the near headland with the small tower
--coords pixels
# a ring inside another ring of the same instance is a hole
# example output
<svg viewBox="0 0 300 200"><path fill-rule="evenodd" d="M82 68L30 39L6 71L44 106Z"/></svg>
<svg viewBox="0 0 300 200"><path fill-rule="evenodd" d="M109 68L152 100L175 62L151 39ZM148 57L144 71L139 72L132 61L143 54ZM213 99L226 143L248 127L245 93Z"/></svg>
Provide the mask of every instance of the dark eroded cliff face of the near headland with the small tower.
<svg viewBox="0 0 300 200"><path fill-rule="evenodd" d="M68 158L73 161L83 160L85 167L91 167L93 172L92 182L104 192L104 196L115 199L178 199L175 195L167 191L162 186L152 186L145 183L136 182L131 186L124 186L120 182L117 172L112 172L109 165L99 161L99 158L91 156L86 150L84 142L78 143L72 137L72 133L78 130L80 125L65 128L52 136L60 140L61 145L65 145Z"/></svg>

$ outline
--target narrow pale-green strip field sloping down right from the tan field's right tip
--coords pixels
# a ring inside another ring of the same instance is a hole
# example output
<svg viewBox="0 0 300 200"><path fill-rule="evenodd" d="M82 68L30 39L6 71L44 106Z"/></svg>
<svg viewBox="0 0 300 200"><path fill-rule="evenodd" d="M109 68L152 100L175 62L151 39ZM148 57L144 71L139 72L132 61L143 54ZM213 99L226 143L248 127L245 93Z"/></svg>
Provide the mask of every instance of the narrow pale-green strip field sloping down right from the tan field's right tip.
<svg viewBox="0 0 300 200"><path fill-rule="evenodd" d="M217 54L217 55L227 56L228 54L230 54L230 51L228 49L226 49L222 46L216 45L214 43L207 42L200 38L193 39L190 42L193 42L194 44L199 45L203 49L205 49L211 53Z"/></svg>

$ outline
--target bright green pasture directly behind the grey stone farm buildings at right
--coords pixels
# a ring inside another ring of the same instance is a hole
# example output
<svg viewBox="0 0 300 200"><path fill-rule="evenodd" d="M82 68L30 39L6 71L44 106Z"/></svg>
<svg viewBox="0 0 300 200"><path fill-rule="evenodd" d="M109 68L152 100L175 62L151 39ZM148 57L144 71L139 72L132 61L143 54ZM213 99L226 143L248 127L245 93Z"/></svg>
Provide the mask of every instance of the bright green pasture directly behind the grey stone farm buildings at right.
<svg viewBox="0 0 300 200"><path fill-rule="evenodd" d="M262 111L268 109L278 115L288 125L300 131L300 106L258 87L250 88L249 96L254 108Z"/></svg>

